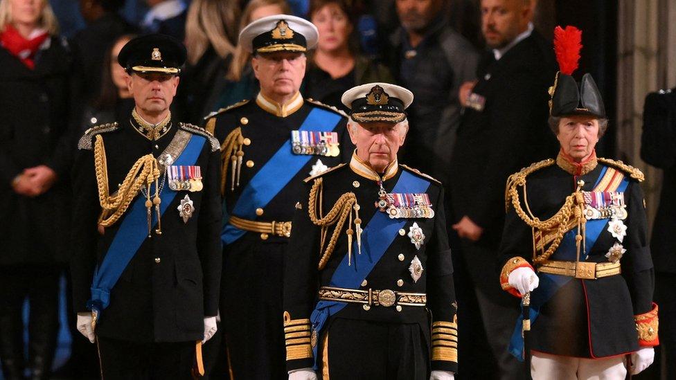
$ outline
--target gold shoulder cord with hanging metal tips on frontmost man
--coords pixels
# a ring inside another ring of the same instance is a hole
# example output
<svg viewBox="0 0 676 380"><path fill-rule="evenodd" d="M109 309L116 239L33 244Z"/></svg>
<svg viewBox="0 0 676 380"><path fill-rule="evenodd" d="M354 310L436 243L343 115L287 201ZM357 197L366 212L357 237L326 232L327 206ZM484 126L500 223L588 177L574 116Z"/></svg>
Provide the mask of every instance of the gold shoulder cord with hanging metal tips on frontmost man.
<svg viewBox="0 0 676 380"><path fill-rule="evenodd" d="M323 251L321 259L319 260L318 269L324 269L326 263L331 257L331 253L336 246L338 237L345 220L350 217L350 222L348 224L348 229L346 230L346 235L348 235L348 265L352 264L352 237L357 232L357 248L359 249L359 254L362 253L362 219L359 219L359 204L357 204L357 196L354 192L346 192L342 194L340 198L336 201L335 205L331 210L322 216L321 202L322 202L322 190L323 190L323 179L318 178L314 180L312 184L312 189L310 189L310 200L308 201L308 215L310 215L310 220L315 226L321 227L321 243L319 245L319 251ZM319 197L317 195L319 194ZM319 199L318 199L319 198ZM317 201L319 201L319 218L317 217ZM355 230L352 229L352 212L355 211ZM328 228L330 226L336 225L331 234L331 239L324 250L324 244L326 244L326 235L328 233Z"/></svg>

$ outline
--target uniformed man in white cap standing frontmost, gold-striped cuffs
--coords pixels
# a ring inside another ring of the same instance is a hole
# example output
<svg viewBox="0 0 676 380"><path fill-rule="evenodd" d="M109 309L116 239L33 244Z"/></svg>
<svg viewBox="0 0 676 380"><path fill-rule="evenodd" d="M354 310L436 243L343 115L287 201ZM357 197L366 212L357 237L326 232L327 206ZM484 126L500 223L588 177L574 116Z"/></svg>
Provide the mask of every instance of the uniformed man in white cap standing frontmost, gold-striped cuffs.
<svg viewBox="0 0 676 380"><path fill-rule="evenodd" d="M357 150L349 165L305 179L285 260L289 379L452 380L443 187L397 161L413 94L371 83L341 101Z"/></svg>

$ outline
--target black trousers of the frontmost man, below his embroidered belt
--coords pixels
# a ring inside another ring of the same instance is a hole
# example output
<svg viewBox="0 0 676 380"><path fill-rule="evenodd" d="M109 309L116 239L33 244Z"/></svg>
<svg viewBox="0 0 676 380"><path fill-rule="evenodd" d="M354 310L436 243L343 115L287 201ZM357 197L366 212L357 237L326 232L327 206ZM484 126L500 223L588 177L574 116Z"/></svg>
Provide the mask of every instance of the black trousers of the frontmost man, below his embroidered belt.
<svg viewBox="0 0 676 380"><path fill-rule="evenodd" d="M317 375L331 380L427 380L429 345L417 323L336 318L319 342Z"/></svg>

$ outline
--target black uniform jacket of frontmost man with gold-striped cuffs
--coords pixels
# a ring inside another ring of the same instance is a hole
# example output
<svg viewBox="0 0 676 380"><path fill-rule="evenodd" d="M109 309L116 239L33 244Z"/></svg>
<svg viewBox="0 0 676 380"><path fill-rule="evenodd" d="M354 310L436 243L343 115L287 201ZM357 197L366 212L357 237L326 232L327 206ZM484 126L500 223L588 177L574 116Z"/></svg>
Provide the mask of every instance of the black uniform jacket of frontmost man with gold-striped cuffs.
<svg viewBox="0 0 676 380"><path fill-rule="evenodd" d="M353 159L353 162L355 160L356 158ZM453 267L445 228L443 188L441 183L432 179L432 177L420 174L417 170L398 165L396 161L391 165L394 165L393 172L395 174L392 177L385 176L384 190L391 192L404 171L413 174L413 176L422 177L430 182L427 194L436 215L432 219L407 219L402 230L396 232L393 242L386 248L384 255L375 264L371 273L366 276L362 286L358 289L365 291L368 291L368 289L389 289L395 292L427 293L427 305L426 307L373 305L366 310L362 304L347 303L337 314L330 317L324 325L323 331L327 331L331 320L334 318L371 320L382 323L417 323L420 325L422 334L427 338L428 347L431 347L431 323L433 321L453 323L456 312ZM371 171L375 174L375 171ZM386 174L388 172L388 170L385 171ZM292 322L310 318L310 314L317 305L319 287L335 286L331 285L331 278L341 260L348 254L348 238L345 232L347 227L344 227L326 266L322 270L318 270L318 264L323 255L323 251L320 252L321 228L312 223L308 214L308 194L310 194L310 189L316 178L306 180L307 187L303 192L299 206L296 206L294 230L285 263L284 309ZM350 165L342 165L325 174L320 174L319 178L323 181L321 195L323 215L326 215L341 195L348 192L353 192L357 197L362 228L367 228L368 222L375 215L375 212L381 212L375 207L380 190L377 182L357 174L350 168ZM317 208L319 209L319 206ZM411 238L407 236L413 223L417 223L425 235L424 244L420 246L420 249L416 249L416 246L411 242ZM348 224L348 221L346 221L346 224ZM335 226L329 228L327 241L334 229ZM359 261L366 260L368 255L370 255L368 246L362 244L361 255L353 250L352 264L359 265ZM422 276L417 281L413 281L409 271L409 266L411 266L414 257L418 257L423 269ZM287 369L311 367L313 364L311 357L301 359L290 357L288 354L290 339L292 339L292 336L287 334ZM307 344L310 345L310 343ZM456 348L449 351L456 354ZM432 370L456 372L456 361L435 361L433 357Z"/></svg>

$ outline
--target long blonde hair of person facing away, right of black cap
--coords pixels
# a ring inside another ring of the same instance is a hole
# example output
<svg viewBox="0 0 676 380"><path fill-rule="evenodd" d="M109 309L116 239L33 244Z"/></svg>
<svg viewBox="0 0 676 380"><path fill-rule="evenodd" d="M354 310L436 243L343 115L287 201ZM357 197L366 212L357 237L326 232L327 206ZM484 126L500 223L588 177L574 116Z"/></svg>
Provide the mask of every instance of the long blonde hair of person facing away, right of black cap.
<svg viewBox="0 0 676 380"><path fill-rule="evenodd" d="M235 53L237 30L233 26L239 16L237 1L193 0L186 17L188 63L196 64L209 45L221 58Z"/></svg>

